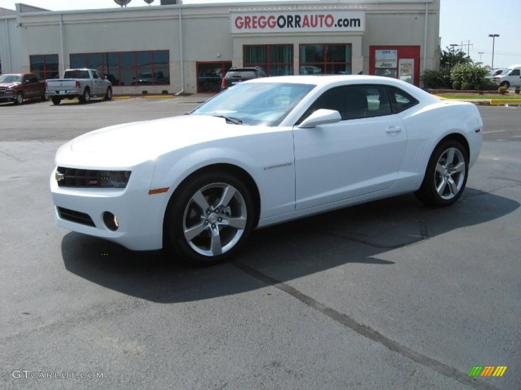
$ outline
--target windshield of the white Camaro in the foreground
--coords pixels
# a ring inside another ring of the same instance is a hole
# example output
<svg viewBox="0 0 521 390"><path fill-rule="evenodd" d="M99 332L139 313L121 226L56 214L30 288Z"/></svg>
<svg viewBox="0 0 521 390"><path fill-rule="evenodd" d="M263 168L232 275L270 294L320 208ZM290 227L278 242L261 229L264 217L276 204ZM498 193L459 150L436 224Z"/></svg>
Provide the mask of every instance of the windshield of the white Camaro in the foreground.
<svg viewBox="0 0 521 390"><path fill-rule="evenodd" d="M228 88L191 112L226 116L244 125L276 126L315 85L242 83Z"/></svg>

